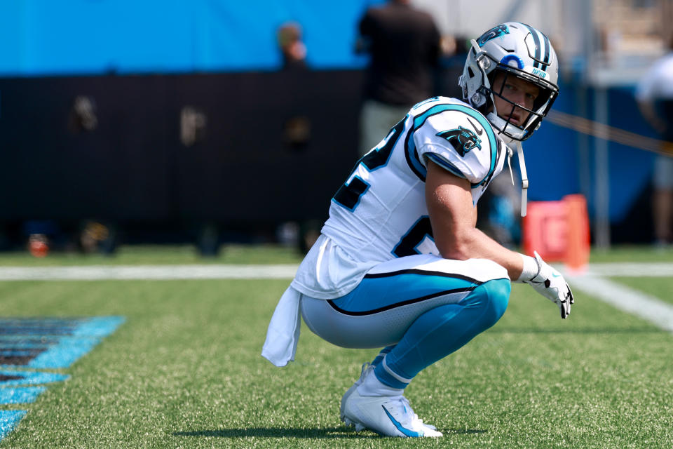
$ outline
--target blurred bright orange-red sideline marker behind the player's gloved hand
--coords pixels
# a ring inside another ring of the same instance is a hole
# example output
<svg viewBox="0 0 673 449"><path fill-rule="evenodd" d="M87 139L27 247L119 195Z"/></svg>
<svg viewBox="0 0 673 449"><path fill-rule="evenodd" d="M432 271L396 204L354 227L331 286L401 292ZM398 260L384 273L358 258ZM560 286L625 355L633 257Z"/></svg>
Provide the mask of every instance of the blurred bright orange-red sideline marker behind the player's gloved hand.
<svg viewBox="0 0 673 449"><path fill-rule="evenodd" d="M575 271L589 262L589 215L583 195L567 195L561 201L531 201L522 232L527 255L537 251L545 261L564 262Z"/></svg>

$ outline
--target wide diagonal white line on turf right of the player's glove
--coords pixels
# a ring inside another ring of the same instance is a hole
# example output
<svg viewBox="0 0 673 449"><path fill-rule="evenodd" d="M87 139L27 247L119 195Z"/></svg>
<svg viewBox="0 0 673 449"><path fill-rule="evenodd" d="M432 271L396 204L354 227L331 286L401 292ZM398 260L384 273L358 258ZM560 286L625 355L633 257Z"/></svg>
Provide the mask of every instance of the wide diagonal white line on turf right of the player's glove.
<svg viewBox="0 0 673 449"><path fill-rule="evenodd" d="M640 316L659 328L673 332L673 305L671 304L592 274L580 276L566 274L566 279L573 290L582 290L617 309Z"/></svg>

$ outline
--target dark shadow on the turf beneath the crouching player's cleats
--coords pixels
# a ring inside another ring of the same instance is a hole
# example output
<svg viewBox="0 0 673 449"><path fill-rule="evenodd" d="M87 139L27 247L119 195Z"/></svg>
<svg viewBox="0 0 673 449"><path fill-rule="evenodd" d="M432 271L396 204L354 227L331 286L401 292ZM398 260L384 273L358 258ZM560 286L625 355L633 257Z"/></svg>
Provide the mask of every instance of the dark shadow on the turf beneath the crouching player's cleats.
<svg viewBox="0 0 673 449"><path fill-rule="evenodd" d="M481 429L440 429L447 434L484 434ZM219 429L173 432L173 436L215 436L217 438L379 438L373 432L355 432L346 427L327 427L325 429L283 429L278 427L251 427L248 429Z"/></svg>

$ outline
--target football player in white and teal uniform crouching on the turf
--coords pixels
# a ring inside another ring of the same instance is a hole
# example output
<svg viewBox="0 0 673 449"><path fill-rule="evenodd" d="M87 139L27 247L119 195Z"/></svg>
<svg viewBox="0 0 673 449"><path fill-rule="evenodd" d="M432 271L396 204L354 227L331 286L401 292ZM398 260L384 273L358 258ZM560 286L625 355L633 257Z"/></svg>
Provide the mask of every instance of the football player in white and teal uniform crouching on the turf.
<svg viewBox="0 0 673 449"><path fill-rule="evenodd" d="M442 436L416 416L405 387L500 319L510 281L529 283L562 318L570 313L572 293L555 269L475 227L477 201L503 170L508 145L520 154L550 109L557 71L538 30L517 22L489 30L472 41L460 79L469 103L435 97L414 106L334 195L262 355L277 366L294 360L300 316L327 342L383 348L341 399L341 420L356 430Z"/></svg>

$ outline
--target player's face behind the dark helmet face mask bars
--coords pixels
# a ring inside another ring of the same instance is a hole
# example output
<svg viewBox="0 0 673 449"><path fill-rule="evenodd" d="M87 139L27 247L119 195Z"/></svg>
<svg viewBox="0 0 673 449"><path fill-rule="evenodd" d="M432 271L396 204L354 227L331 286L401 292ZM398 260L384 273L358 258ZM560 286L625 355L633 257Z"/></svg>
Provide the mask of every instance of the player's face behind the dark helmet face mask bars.
<svg viewBox="0 0 673 449"><path fill-rule="evenodd" d="M533 83L529 83L513 75L507 76L503 72L496 73L493 80L493 91L500 93L500 95L510 100L510 102L526 109L533 109L533 102L540 94L540 89ZM510 119L510 123L519 126L519 128L528 120L529 112L524 111L524 109L515 107L515 105L503 100L498 95L493 95L493 100L496 105L496 111L498 111L498 116L501 119Z"/></svg>

